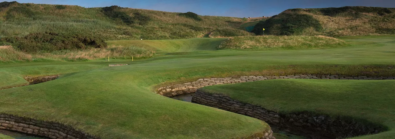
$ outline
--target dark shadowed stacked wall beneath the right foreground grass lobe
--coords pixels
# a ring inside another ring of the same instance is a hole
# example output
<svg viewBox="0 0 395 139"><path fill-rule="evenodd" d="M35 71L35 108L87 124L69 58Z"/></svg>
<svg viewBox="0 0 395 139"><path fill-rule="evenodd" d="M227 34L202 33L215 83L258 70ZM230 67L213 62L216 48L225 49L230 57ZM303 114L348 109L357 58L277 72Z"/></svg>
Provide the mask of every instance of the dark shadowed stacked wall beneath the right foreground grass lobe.
<svg viewBox="0 0 395 139"><path fill-rule="evenodd" d="M193 96L192 102L258 118L270 124L272 128L289 130L295 134L320 139L375 134L385 129L380 125L371 123L361 123L340 117L332 118L326 115L314 115L308 112L282 115L258 105L243 103L226 95L210 94L199 89Z"/></svg>

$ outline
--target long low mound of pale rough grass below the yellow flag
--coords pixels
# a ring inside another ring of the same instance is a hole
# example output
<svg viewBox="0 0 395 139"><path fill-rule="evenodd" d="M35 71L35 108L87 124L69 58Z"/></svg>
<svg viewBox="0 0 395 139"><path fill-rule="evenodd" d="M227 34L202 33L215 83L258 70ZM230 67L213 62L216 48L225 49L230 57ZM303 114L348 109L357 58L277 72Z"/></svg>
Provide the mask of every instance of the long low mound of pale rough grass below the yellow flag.
<svg viewBox="0 0 395 139"><path fill-rule="evenodd" d="M245 36L226 39L220 49L314 49L344 47L346 42L326 36Z"/></svg>

